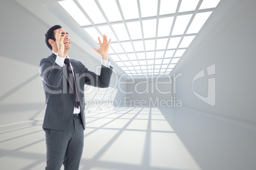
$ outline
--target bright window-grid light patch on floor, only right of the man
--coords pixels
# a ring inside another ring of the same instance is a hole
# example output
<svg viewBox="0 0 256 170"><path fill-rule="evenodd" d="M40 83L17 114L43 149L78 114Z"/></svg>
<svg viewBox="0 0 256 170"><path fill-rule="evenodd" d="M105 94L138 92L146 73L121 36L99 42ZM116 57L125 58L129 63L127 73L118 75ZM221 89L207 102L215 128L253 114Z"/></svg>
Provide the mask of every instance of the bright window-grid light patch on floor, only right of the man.
<svg viewBox="0 0 256 170"><path fill-rule="evenodd" d="M85 169L200 169L158 108L86 114Z"/></svg>

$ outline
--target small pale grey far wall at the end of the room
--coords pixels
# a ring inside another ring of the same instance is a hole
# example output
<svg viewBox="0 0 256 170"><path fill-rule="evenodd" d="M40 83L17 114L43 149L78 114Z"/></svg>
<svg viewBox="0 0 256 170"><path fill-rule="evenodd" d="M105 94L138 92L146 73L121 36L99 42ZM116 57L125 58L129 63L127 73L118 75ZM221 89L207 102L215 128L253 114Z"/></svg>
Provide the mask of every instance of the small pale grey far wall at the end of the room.
<svg viewBox="0 0 256 170"><path fill-rule="evenodd" d="M127 80L124 104L135 107L171 107L172 82L169 75L156 78L148 75L141 79Z"/></svg>

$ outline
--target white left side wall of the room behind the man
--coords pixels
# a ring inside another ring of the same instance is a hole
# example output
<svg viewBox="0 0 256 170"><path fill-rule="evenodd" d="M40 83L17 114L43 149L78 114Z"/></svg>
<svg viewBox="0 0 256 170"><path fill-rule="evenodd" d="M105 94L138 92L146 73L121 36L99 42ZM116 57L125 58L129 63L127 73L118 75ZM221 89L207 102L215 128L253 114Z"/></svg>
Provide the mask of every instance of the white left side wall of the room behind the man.
<svg viewBox="0 0 256 170"><path fill-rule="evenodd" d="M44 39L45 32L52 25L47 25L13 0L1 1L0 17L0 125L20 124L22 121L31 124L27 120L42 119L44 115L45 95L39 79L39 62L52 53ZM101 62L76 44L71 43L71 46L69 56L80 60L89 70L97 72ZM115 79L113 75L110 89L114 87ZM117 87L114 88L115 93L108 95L123 98ZM89 99L97 96L96 92L97 89L88 94ZM98 96L98 99L102 98ZM13 119L9 119L11 117Z"/></svg>

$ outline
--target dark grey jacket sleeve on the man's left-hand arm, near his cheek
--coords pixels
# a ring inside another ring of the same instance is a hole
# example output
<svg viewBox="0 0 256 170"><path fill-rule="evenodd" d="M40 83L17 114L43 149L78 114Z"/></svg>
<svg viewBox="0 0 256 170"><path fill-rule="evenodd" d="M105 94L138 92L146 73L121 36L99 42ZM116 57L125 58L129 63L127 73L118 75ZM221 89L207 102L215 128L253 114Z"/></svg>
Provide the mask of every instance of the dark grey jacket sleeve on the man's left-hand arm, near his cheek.
<svg viewBox="0 0 256 170"><path fill-rule="evenodd" d="M63 67L51 62L48 58L43 58L39 65L39 74L45 84L57 88L62 80Z"/></svg>

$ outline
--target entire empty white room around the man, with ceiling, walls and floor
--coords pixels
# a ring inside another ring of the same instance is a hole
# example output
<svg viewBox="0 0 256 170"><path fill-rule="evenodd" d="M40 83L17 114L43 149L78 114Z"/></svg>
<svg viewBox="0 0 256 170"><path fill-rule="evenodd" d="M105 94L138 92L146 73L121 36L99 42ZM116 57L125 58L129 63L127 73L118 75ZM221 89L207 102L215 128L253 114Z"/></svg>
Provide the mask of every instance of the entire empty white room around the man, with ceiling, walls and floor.
<svg viewBox="0 0 256 170"><path fill-rule="evenodd" d="M85 88L80 169L256 169L255 0L3 0L1 169L45 169L44 35L61 25L69 57L110 87ZM62 169L64 169L62 167Z"/></svg>

